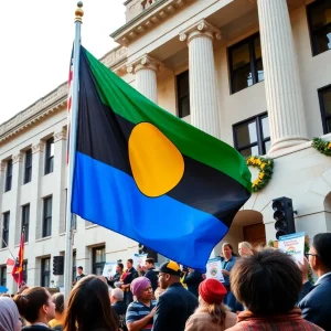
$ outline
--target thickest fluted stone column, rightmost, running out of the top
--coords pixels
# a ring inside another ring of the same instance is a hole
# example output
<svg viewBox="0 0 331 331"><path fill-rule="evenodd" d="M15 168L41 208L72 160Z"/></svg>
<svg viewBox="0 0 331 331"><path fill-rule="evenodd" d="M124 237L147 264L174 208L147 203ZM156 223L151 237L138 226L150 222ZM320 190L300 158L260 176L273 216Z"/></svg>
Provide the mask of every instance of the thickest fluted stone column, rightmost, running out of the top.
<svg viewBox="0 0 331 331"><path fill-rule="evenodd" d="M271 149L307 141L303 99L286 0L258 0Z"/></svg>

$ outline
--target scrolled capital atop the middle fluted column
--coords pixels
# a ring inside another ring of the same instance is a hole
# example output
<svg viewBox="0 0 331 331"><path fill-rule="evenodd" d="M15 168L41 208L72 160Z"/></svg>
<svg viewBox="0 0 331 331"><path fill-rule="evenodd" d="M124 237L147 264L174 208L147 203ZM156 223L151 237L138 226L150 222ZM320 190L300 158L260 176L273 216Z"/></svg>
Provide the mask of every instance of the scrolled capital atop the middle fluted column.
<svg viewBox="0 0 331 331"><path fill-rule="evenodd" d="M179 34L180 41L186 41L188 43L190 43L192 39L197 36L206 36L211 40L221 40L222 32L220 29L210 24L206 20L201 20Z"/></svg>

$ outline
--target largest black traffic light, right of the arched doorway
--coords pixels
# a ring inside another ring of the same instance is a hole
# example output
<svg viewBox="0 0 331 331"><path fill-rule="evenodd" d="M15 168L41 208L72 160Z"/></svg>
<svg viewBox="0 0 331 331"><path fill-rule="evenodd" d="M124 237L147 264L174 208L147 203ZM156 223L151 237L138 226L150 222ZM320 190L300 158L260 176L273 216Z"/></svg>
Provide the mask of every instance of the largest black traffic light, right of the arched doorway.
<svg viewBox="0 0 331 331"><path fill-rule="evenodd" d="M278 197L273 202L276 238L296 232L292 200L289 197Z"/></svg>

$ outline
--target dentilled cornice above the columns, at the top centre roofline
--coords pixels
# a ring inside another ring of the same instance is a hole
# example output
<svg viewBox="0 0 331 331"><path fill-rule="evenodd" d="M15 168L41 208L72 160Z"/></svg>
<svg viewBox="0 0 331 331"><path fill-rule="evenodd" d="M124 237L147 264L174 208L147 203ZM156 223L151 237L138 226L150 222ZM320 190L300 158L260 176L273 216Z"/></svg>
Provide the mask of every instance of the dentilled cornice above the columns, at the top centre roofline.
<svg viewBox="0 0 331 331"><path fill-rule="evenodd" d="M195 0L159 0L113 32L110 36L120 45L127 46L193 1Z"/></svg>

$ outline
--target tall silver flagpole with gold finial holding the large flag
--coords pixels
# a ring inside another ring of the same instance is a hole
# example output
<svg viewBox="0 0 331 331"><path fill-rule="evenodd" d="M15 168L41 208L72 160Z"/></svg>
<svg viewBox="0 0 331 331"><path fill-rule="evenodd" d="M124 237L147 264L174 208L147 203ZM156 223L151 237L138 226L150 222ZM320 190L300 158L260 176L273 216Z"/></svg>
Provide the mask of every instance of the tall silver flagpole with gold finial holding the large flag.
<svg viewBox="0 0 331 331"><path fill-rule="evenodd" d="M73 271L73 224L75 223L75 214L72 214L72 189L75 168L76 154L76 136L77 136L77 115L78 115L78 89L79 89L79 52L81 52L81 26L84 11L83 2L77 3L75 11L75 42L74 42L74 61L73 61L73 89L72 89L72 109L68 114L70 124L70 151L67 168L67 200L66 200L66 226L65 226L65 258L64 258L64 297L68 298L72 289L72 271Z"/></svg>

